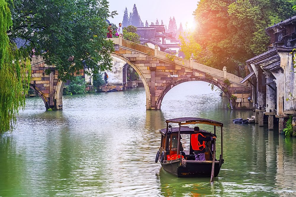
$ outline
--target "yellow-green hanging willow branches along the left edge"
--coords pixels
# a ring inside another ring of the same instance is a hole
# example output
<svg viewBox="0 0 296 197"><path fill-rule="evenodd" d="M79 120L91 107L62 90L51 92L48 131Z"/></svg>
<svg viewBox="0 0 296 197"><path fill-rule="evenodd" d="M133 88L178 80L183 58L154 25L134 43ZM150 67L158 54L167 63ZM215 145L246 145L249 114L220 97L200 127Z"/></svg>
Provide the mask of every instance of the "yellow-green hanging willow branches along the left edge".
<svg viewBox="0 0 296 197"><path fill-rule="evenodd" d="M11 43L7 30L12 27L6 0L0 0L0 134L12 131L19 109L25 107L31 66L28 54Z"/></svg>

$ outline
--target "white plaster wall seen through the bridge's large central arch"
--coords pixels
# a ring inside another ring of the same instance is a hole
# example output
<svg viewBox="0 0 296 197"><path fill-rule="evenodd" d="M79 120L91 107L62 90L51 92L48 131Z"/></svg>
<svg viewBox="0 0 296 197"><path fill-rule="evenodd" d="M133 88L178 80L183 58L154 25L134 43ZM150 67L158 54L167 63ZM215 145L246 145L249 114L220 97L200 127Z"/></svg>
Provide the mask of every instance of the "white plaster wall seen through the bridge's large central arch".
<svg viewBox="0 0 296 197"><path fill-rule="evenodd" d="M108 74L108 84L110 85L119 85L123 84L123 66L126 64L125 61L113 57L113 66L112 71L105 71Z"/></svg>

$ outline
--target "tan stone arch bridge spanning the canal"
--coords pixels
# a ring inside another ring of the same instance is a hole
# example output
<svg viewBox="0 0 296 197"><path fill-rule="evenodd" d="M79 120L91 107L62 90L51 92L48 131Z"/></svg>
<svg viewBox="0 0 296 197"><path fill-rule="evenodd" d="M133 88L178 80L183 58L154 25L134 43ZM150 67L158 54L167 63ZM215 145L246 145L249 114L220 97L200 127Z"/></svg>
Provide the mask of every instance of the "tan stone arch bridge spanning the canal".
<svg viewBox="0 0 296 197"><path fill-rule="evenodd" d="M242 78L197 62L172 56L168 53L139 45L122 38L110 38L115 44L111 53L131 65L141 77L146 91L146 109L159 110L165 94L174 86L188 81L205 81L220 88L232 109L250 109L248 97L251 94ZM30 87L38 92L46 109L62 109L64 82L58 79L58 71L44 64L41 58L34 57L31 69ZM50 74L45 70L50 69Z"/></svg>

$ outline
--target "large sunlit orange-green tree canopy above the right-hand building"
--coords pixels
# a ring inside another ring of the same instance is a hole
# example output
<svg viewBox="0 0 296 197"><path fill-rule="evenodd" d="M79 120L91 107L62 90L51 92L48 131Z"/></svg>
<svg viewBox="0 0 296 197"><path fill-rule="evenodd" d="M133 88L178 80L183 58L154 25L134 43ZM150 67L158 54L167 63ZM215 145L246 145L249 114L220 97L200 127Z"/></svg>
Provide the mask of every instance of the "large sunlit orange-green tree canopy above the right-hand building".
<svg viewBox="0 0 296 197"><path fill-rule="evenodd" d="M245 61L267 49L268 26L294 16L295 0L201 0L194 12L197 61L240 76Z"/></svg>

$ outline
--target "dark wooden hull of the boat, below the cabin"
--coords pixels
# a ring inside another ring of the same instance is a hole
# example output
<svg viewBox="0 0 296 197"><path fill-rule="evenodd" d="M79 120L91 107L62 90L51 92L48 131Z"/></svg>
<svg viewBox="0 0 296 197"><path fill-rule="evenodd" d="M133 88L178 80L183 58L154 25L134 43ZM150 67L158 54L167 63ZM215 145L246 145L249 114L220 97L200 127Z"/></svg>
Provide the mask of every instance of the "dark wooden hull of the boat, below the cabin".
<svg viewBox="0 0 296 197"><path fill-rule="evenodd" d="M221 165L219 161L215 161L214 177L218 176ZM164 161L161 166L165 171L176 177L211 177L212 172L211 161L186 160L186 167L183 167L180 160L174 160L171 162Z"/></svg>

